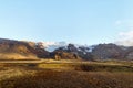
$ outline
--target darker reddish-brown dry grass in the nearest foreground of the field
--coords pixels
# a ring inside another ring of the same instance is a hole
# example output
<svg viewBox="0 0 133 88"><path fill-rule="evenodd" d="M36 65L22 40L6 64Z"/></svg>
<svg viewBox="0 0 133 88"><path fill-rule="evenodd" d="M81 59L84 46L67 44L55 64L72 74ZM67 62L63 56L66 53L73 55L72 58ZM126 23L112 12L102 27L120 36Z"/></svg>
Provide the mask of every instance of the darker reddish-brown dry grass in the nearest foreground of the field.
<svg viewBox="0 0 133 88"><path fill-rule="evenodd" d="M0 88L132 88L132 73L39 70L0 81Z"/></svg>

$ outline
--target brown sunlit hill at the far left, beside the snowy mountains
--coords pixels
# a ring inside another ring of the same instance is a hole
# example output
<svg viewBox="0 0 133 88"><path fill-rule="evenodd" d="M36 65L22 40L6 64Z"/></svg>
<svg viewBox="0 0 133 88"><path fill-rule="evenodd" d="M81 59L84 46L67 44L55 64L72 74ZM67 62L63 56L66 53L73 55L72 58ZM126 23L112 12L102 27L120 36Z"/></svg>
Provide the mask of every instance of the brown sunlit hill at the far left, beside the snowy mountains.
<svg viewBox="0 0 133 88"><path fill-rule="evenodd" d="M39 44L0 38L0 59L37 59L47 52Z"/></svg>

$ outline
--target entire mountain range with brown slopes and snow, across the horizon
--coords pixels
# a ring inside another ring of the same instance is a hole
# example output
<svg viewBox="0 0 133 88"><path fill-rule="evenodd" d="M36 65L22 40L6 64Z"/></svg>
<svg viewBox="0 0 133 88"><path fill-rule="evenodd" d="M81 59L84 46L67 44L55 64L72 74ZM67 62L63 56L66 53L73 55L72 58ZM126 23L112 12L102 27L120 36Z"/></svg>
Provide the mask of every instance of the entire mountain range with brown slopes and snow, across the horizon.
<svg viewBox="0 0 133 88"><path fill-rule="evenodd" d="M78 45L65 42L28 42L0 38L0 59L133 59L133 46L113 43Z"/></svg>

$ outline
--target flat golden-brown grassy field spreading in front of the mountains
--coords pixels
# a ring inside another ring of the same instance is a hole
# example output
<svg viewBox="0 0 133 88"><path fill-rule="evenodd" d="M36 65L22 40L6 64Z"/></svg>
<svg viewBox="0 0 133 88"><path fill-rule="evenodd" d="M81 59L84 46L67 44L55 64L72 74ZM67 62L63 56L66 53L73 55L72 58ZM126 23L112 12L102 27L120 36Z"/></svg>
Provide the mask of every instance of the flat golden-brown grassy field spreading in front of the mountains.
<svg viewBox="0 0 133 88"><path fill-rule="evenodd" d="M0 88L133 88L132 62L17 62L0 63Z"/></svg>

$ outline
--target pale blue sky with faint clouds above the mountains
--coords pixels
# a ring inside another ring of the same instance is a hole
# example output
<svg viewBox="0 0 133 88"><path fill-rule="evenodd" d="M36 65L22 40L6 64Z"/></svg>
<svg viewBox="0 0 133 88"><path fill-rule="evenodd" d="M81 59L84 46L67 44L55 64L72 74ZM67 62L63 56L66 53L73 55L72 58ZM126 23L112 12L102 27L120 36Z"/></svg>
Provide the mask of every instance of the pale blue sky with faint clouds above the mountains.
<svg viewBox="0 0 133 88"><path fill-rule="evenodd" d="M0 0L0 37L113 43L133 40L133 0Z"/></svg>

